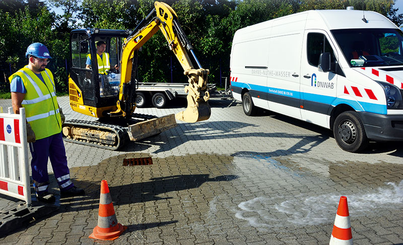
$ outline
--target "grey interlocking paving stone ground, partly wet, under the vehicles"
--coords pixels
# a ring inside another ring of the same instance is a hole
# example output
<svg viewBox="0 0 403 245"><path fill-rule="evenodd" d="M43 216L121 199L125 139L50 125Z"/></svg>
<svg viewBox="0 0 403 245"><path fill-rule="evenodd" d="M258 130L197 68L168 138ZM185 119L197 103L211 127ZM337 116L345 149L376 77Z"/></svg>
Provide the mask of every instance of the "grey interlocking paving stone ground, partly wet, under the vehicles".
<svg viewBox="0 0 403 245"><path fill-rule="evenodd" d="M94 120L73 112L67 97L58 100L67 119ZM232 100L210 104L209 120L178 122L120 151L65 143L71 175L86 196L58 198L58 211L0 235L0 244L328 244L343 195L355 244L403 244L401 142L348 153L326 129L270 111L248 117ZM137 112L182 109L177 102ZM153 164L124 166L139 157ZM102 179L128 227L114 241L88 238ZM0 196L0 209L14 203Z"/></svg>

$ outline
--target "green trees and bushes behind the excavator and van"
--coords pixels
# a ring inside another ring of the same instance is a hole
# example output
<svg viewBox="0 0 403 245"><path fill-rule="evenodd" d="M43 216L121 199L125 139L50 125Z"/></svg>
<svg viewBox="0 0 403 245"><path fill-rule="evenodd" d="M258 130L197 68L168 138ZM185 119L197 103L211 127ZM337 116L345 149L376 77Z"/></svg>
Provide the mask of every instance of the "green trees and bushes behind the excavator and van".
<svg viewBox="0 0 403 245"><path fill-rule="evenodd" d="M66 63L72 29L134 29L154 8L154 0L7 0L0 1L0 91L9 91L7 78L27 64L29 44L42 42L53 57L52 71L58 93L66 93ZM396 25L403 15L393 8L395 0L165 0L194 47L200 64L210 70L209 83L229 76L229 58L234 33L243 27L282 16L315 9L376 11ZM56 15L46 5L61 8ZM80 21L78 21L80 20ZM81 24L80 24L81 23ZM391 39L381 40L385 50L395 50ZM172 60L172 61L171 61ZM167 47L161 33L154 35L139 52L141 82L186 82L183 69ZM193 64L195 65L195 64Z"/></svg>

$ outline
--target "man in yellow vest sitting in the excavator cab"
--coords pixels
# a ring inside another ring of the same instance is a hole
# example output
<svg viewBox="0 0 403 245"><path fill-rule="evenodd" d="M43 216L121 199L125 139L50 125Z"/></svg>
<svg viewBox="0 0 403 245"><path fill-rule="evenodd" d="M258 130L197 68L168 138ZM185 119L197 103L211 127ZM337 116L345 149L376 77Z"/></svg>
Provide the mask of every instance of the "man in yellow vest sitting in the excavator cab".
<svg viewBox="0 0 403 245"><path fill-rule="evenodd" d="M98 73L100 74L100 95L101 97L108 95L108 93L104 93L103 88L105 87L105 83L107 79L102 75L108 75L110 70L110 59L109 53L105 52L106 43L104 41L96 42L97 45L97 63L98 63ZM86 69L91 69L91 54L87 54L86 60ZM115 65L115 70L119 70L117 64ZM112 75L112 73L110 74ZM114 74L113 74L114 76ZM104 81L106 80L106 81Z"/></svg>

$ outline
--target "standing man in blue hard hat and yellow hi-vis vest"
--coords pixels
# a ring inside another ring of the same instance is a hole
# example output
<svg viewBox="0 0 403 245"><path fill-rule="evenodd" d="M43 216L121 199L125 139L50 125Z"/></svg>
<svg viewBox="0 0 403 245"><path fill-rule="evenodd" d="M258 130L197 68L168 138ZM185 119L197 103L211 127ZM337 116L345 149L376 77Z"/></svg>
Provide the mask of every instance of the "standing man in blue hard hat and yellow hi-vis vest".
<svg viewBox="0 0 403 245"><path fill-rule="evenodd" d="M74 186L61 136L64 115L56 100L53 74L46 65L51 57L42 43L28 46L25 56L28 65L10 76L11 100L14 113L25 108L27 139L32 155L31 168L38 201L54 203L48 192L47 163L50 159L61 197L84 195L83 189Z"/></svg>

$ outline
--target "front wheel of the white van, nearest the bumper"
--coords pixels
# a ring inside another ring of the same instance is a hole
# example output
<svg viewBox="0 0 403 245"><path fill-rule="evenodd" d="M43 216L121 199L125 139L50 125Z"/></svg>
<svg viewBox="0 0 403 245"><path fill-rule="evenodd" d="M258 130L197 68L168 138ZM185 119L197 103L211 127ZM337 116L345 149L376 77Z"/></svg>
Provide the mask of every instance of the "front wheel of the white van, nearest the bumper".
<svg viewBox="0 0 403 245"><path fill-rule="evenodd" d="M362 151L368 145L364 124L355 111L345 111L336 117L333 134L340 148L348 152Z"/></svg>

